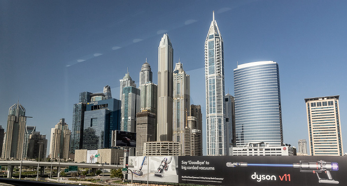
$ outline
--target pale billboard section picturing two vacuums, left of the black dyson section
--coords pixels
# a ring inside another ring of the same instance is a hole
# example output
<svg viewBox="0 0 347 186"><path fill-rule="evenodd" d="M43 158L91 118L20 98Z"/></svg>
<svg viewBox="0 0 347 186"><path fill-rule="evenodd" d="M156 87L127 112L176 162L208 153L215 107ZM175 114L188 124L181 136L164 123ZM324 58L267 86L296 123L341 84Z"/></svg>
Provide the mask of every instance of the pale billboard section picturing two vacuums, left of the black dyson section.
<svg viewBox="0 0 347 186"><path fill-rule="evenodd" d="M138 181L178 183L177 165L178 156L130 156L128 160L133 180Z"/></svg>

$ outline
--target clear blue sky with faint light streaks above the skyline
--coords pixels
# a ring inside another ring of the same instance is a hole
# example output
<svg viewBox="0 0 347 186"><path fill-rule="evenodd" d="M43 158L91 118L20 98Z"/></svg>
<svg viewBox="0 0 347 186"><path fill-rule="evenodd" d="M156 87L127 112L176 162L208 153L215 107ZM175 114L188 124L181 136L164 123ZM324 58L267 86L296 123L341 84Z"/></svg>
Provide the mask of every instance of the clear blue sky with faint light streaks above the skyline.
<svg viewBox="0 0 347 186"><path fill-rule="evenodd" d="M128 68L138 84L146 58L157 83L164 33L174 62L179 58L191 77L191 104L205 109L204 42L214 10L224 40L226 93L233 95L237 62L276 61L284 142L308 140L304 98L340 95L347 144L346 7L343 0L1 0L0 125L6 128L8 108L19 97L33 117L27 125L50 139L60 118L71 129L80 92L110 85L119 98L119 79Z"/></svg>

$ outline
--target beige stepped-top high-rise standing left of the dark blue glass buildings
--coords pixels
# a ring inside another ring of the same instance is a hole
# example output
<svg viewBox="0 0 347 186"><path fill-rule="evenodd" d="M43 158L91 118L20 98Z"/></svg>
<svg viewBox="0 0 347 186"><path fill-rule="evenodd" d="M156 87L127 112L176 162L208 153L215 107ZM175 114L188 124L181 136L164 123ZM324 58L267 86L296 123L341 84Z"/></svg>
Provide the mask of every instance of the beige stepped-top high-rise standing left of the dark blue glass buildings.
<svg viewBox="0 0 347 186"><path fill-rule="evenodd" d="M65 123L65 119L61 118L59 123L51 130L51 146L50 157L53 159L69 157L70 136L71 131Z"/></svg>

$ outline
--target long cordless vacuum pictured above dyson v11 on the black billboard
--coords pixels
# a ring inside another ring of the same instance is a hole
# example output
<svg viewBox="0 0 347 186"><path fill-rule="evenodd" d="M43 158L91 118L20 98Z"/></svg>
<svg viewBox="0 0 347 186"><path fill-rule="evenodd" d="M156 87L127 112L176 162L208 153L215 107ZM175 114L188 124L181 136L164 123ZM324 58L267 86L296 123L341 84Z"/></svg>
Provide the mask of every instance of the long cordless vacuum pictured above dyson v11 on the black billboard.
<svg viewBox="0 0 347 186"><path fill-rule="evenodd" d="M316 173L318 182L323 184L339 184L339 181L335 181L330 174L330 171L338 171L339 165L336 162L325 162L325 161L300 161L300 163L293 164L262 164L262 163L243 163L235 162L227 163L227 167L293 167L300 168L300 172ZM321 178L318 173L324 172L328 178Z"/></svg>

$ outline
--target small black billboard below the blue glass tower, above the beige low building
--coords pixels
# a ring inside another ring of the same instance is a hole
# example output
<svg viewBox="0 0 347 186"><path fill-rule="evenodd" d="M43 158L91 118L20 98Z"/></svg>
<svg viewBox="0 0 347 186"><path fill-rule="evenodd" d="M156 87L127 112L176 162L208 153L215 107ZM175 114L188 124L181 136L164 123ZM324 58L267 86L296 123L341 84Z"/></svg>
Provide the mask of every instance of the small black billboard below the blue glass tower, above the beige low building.
<svg viewBox="0 0 347 186"><path fill-rule="evenodd" d="M136 147L136 133L112 131L113 146Z"/></svg>

